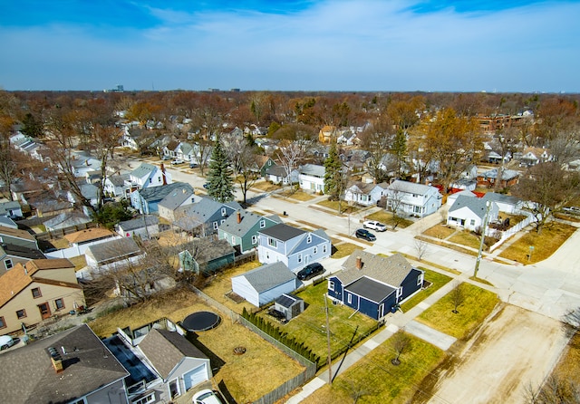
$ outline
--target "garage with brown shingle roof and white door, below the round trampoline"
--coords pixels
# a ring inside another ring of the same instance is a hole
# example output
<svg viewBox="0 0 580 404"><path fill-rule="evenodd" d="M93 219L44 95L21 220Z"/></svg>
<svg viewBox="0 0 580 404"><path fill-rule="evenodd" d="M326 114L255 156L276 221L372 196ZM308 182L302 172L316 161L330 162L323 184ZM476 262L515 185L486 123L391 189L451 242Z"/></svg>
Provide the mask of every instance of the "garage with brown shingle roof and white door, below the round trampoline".
<svg viewBox="0 0 580 404"><path fill-rule="evenodd" d="M160 376L160 383L147 396L150 401L169 402L213 377L208 357L178 332L153 328L138 345L142 355Z"/></svg>

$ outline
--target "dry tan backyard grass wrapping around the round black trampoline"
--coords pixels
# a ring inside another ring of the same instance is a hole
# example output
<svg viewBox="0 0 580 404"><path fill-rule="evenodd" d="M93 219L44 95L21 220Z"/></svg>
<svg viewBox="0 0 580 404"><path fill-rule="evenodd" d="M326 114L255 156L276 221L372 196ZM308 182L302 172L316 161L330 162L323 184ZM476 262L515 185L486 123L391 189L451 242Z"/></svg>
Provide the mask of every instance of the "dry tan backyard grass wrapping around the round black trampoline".
<svg viewBox="0 0 580 404"><path fill-rule="evenodd" d="M216 312L187 289L154 296L146 303L100 317L89 325L100 337L116 332L117 326L131 328L168 317L173 322L183 320L189 313L201 310ZM198 332L198 342L208 348L224 365L214 371L214 381L224 380L227 390L237 402L259 399L280 384L298 375L302 366L291 360L254 332L232 323L227 314L220 313L222 322L208 332ZM244 355L235 355L238 345L246 347ZM212 363L212 365L214 365ZM215 365L214 365L215 366Z"/></svg>

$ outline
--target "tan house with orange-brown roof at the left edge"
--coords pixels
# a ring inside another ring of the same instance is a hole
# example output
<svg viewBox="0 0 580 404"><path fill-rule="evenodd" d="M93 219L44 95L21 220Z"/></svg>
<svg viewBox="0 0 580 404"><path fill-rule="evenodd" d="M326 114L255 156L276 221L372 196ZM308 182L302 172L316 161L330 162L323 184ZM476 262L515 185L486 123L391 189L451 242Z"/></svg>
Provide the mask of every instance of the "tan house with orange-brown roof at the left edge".
<svg viewBox="0 0 580 404"><path fill-rule="evenodd" d="M0 276L0 334L17 332L84 305L84 295L66 258L16 264Z"/></svg>

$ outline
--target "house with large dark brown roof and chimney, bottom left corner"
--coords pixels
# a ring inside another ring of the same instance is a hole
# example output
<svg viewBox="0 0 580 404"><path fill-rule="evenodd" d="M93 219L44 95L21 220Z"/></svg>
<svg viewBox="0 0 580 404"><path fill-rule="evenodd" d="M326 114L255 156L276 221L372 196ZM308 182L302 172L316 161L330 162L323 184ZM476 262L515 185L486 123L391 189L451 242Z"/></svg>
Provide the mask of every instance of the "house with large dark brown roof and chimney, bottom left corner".
<svg viewBox="0 0 580 404"><path fill-rule="evenodd" d="M127 404L129 372L87 324L0 355L10 404Z"/></svg>

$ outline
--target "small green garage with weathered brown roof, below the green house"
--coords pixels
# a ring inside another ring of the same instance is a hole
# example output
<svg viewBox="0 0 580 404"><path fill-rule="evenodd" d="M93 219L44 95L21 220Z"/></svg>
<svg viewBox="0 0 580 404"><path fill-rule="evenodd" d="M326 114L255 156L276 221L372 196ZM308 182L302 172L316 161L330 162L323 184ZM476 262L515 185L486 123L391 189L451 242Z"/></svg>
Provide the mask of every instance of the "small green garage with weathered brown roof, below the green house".
<svg viewBox="0 0 580 404"><path fill-rule="evenodd" d="M187 249L179 253L179 267L184 271L209 275L234 264L235 258L236 250L226 240L195 238Z"/></svg>

